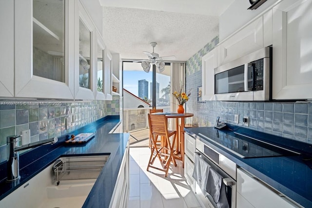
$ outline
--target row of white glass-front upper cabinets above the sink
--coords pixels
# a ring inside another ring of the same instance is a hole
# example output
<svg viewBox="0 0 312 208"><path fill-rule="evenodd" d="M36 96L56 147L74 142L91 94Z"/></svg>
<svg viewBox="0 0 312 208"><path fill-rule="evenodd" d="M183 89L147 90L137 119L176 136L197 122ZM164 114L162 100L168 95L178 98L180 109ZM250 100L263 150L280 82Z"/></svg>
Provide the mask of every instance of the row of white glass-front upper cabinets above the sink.
<svg viewBox="0 0 312 208"><path fill-rule="evenodd" d="M80 0L1 1L0 17L0 97L112 98L112 56Z"/></svg>

